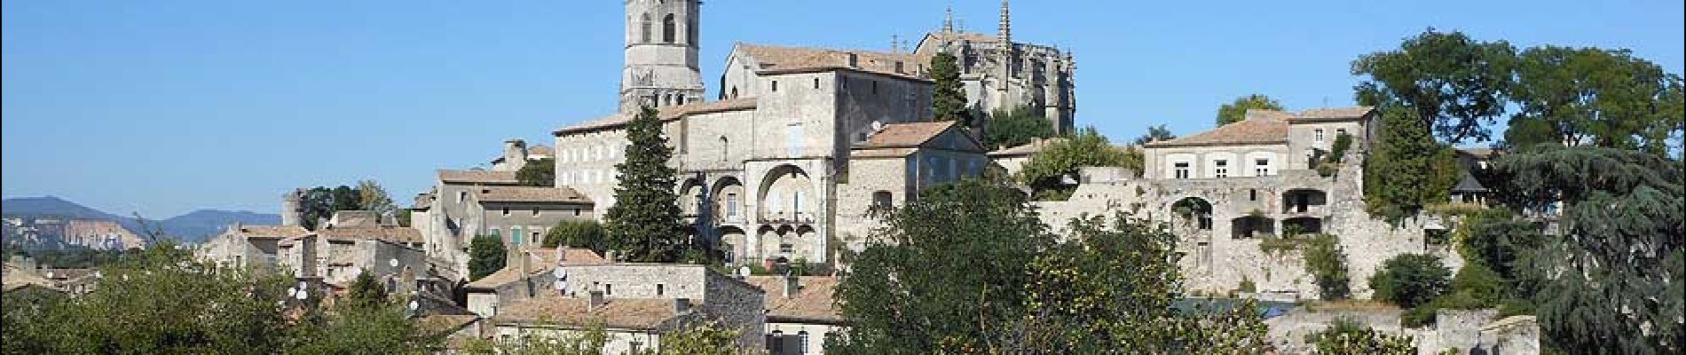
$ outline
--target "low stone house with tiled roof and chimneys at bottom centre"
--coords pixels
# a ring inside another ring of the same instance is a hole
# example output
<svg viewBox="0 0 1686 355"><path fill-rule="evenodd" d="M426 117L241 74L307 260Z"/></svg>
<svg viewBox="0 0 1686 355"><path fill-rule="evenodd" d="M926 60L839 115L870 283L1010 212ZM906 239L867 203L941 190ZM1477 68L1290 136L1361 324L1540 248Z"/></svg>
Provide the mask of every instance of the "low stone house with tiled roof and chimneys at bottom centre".
<svg viewBox="0 0 1686 355"><path fill-rule="evenodd" d="M661 348L663 333L718 321L740 330L738 348L762 348L764 293L693 264L593 264L558 268L558 286L513 301L487 323L497 340L570 336L604 325L604 353Z"/></svg>

